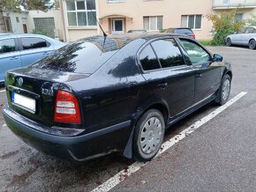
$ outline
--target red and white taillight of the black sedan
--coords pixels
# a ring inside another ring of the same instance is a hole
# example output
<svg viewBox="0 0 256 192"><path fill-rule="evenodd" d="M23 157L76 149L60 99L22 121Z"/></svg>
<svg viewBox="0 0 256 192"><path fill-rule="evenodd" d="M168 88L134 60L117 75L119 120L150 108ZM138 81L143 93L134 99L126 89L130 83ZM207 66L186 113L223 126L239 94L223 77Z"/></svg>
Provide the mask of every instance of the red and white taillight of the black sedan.
<svg viewBox="0 0 256 192"><path fill-rule="evenodd" d="M79 101L71 92L57 91L54 121L81 123Z"/></svg>

